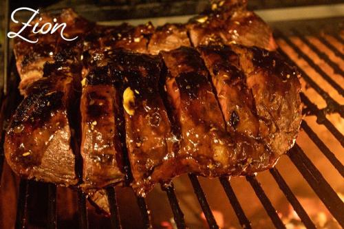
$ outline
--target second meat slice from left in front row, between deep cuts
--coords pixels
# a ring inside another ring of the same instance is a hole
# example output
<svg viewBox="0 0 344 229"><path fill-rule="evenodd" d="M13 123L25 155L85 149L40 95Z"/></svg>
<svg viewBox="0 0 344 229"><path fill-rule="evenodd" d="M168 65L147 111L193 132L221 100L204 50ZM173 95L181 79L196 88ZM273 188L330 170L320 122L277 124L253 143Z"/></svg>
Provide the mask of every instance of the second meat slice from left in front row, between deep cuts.
<svg viewBox="0 0 344 229"><path fill-rule="evenodd" d="M118 131L119 96L107 67L95 67L85 79L80 102L83 188L103 188L124 179Z"/></svg>

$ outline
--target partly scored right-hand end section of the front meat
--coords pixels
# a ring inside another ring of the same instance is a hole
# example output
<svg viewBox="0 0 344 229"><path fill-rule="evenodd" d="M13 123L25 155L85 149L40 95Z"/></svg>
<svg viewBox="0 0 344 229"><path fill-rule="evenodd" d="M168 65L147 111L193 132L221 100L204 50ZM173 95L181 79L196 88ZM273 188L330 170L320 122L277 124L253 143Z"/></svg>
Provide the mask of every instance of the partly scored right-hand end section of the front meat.
<svg viewBox="0 0 344 229"><path fill-rule="evenodd" d="M237 142L255 145L248 153L252 166L247 170L252 173L272 167L299 131L301 101L296 69L274 52L255 47L207 46L198 50L211 73L229 133ZM275 120L281 116L288 118Z"/></svg>

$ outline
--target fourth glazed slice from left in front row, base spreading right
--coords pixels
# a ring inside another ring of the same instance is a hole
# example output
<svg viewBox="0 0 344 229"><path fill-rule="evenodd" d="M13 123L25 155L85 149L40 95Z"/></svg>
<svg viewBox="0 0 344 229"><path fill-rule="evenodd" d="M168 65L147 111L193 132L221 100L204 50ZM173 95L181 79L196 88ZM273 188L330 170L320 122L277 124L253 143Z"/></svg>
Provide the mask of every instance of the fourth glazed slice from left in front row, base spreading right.
<svg viewBox="0 0 344 229"><path fill-rule="evenodd" d="M275 164L276 157L262 142L226 127L197 51L182 47L162 52L162 57L168 69L166 93L180 126L180 171L207 177L246 175Z"/></svg>

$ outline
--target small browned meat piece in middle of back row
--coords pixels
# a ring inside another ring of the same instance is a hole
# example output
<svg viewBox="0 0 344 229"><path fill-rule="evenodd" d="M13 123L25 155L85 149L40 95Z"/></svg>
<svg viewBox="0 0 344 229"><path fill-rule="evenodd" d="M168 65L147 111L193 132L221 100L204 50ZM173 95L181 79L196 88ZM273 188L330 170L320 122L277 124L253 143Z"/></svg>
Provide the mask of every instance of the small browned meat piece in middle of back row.
<svg viewBox="0 0 344 229"><path fill-rule="evenodd" d="M181 46L191 46L185 25L167 23L155 29L148 45L149 54L175 50Z"/></svg>

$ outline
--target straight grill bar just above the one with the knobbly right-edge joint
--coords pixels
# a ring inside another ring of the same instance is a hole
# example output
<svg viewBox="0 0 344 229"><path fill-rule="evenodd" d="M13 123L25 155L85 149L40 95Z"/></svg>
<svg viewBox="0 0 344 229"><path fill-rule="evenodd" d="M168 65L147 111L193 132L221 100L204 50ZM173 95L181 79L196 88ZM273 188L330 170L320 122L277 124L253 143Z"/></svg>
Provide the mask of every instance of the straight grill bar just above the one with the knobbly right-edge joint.
<svg viewBox="0 0 344 229"><path fill-rule="evenodd" d="M327 83L329 83L334 89L336 89L336 91L338 91L338 94L340 94L341 96L344 96L344 90L341 88L340 85L338 85L330 76L328 76L328 74L326 74L323 69L321 69L321 67L319 67L319 65L316 65L316 63L314 63L314 61L312 61L312 59L310 57L308 57L307 55L305 55L299 47L297 47L297 45L295 45L292 41L290 41L290 39L284 35L282 32L280 32L279 30L277 30L279 36L281 36L281 38L286 41L286 43L292 47L292 49L297 52L297 54L299 54L299 56L301 56L301 58L303 58L308 65L310 65L310 67L312 67L314 70L316 70L316 72L318 72L321 77L323 77L324 80L327 81Z"/></svg>

